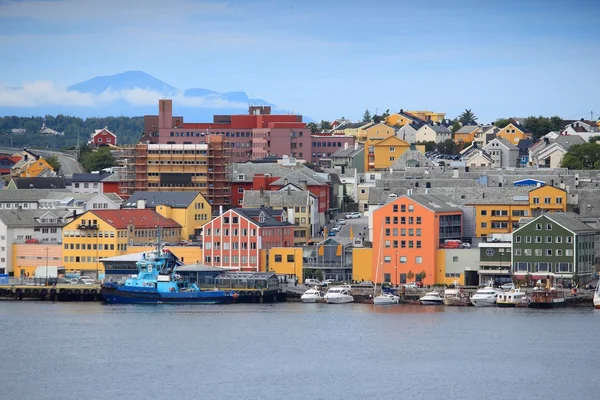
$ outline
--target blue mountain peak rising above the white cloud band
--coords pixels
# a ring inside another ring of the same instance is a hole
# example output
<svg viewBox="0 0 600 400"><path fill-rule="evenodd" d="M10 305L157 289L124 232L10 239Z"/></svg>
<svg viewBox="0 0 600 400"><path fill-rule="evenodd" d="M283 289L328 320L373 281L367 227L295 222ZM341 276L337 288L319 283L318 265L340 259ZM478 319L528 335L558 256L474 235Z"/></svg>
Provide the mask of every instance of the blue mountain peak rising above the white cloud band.
<svg viewBox="0 0 600 400"><path fill-rule="evenodd" d="M143 71L126 71L116 75L97 76L68 87L68 90L93 94L104 93L109 89L117 92L145 89L161 94L174 94L177 91L173 86Z"/></svg>

